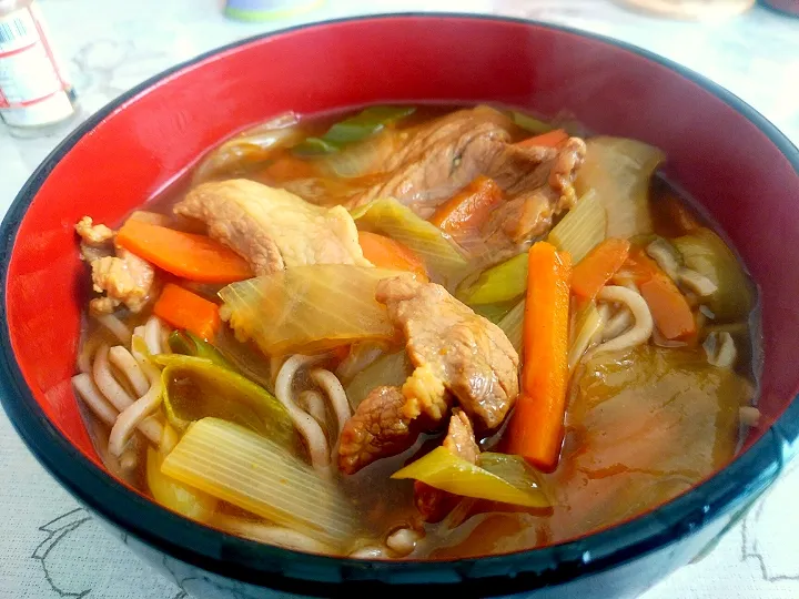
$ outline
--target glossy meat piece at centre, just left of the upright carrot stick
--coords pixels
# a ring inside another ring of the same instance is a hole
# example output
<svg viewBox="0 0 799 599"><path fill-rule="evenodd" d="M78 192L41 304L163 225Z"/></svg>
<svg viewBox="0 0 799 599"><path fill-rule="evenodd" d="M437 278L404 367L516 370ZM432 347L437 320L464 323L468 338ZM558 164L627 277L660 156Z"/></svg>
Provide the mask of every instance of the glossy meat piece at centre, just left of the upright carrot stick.
<svg viewBox="0 0 799 599"><path fill-rule="evenodd" d="M387 278L377 284L375 298L405 335L416 369L441 380L482 428L499 426L518 395L519 358L505 333L435 283ZM439 418L435 397L406 394L405 416Z"/></svg>

